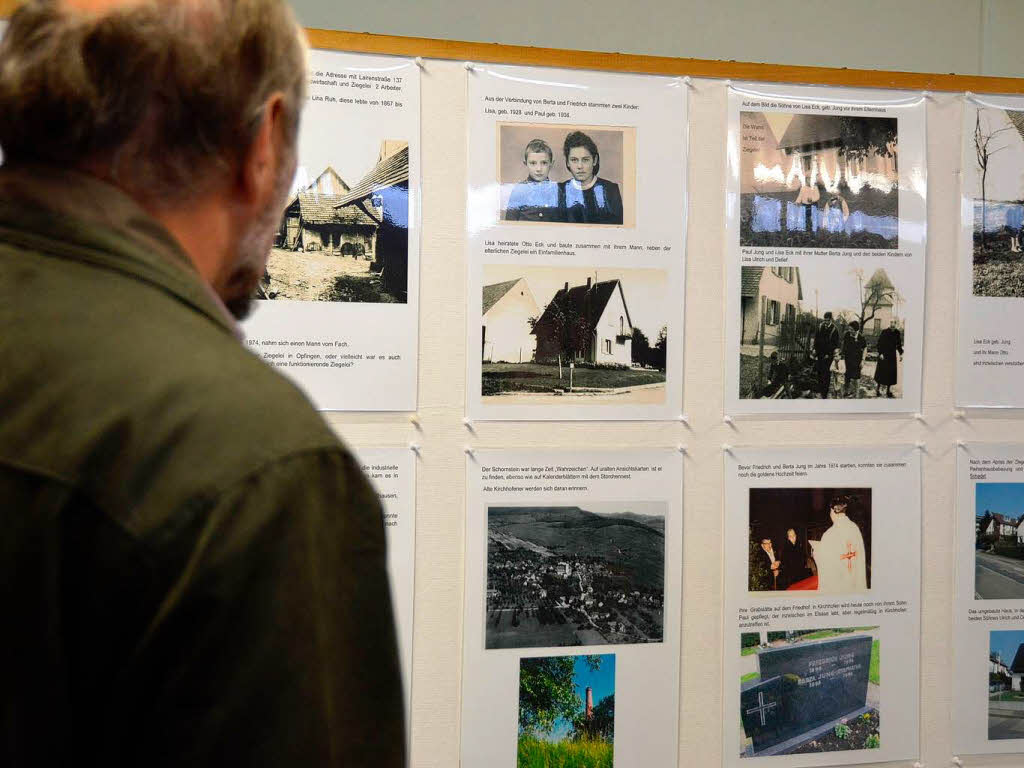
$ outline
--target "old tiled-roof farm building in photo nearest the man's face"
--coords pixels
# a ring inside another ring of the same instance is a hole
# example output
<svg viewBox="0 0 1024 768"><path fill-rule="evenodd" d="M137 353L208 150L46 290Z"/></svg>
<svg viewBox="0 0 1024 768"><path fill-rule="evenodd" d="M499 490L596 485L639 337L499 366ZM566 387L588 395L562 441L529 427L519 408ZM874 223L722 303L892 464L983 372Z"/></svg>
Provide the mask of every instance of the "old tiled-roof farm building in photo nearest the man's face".
<svg viewBox="0 0 1024 768"><path fill-rule="evenodd" d="M278 233L278 246L291 251L326 251L340 256L372 259L379 213L338 203L349 186L328 166L312 183L288 201Z"/></svg>

